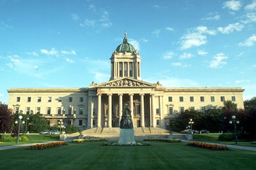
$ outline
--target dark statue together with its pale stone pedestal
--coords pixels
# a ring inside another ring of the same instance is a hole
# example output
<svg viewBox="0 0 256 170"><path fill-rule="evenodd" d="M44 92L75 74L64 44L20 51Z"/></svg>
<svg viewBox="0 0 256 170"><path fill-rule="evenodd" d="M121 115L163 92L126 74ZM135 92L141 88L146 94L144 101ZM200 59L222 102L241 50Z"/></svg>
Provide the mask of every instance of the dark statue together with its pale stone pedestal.
<svg viewBox="0 0 256 170"><path fill-rule="evenodd" d="M123 110L123 115L120 122L120 136L118 145L136 145L136 141L134 141L134 129L131 111L128 108Z"/></svg>

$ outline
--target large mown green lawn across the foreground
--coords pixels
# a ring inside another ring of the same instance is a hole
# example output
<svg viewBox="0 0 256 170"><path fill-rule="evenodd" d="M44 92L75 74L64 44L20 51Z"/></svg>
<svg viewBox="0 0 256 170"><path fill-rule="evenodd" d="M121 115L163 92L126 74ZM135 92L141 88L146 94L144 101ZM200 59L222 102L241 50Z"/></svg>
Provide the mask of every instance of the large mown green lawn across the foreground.
<svg viewBox="0 0 256 170"><path fill-rule="evenodd" d="M2 150L0 169L256 169L256 152L212 151L187 143L101 146L69 143L47 150Z"/></svg>

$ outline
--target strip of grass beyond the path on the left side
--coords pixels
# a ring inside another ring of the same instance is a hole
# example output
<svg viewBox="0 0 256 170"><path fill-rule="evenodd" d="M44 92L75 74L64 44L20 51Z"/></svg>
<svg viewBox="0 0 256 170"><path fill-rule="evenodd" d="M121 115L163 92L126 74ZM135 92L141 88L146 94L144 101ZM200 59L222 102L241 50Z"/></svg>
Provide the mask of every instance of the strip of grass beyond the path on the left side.
<svg viewBox="0 0 256 170"><path fill-rule="evenodd" d="M27 134L29 141L19 141L19 145L27 144L27 143L38 143L38 142L45 142L45 141L59 141L58 134ZM17 145L15 141L3 141L4 144L1 146L8 146L8 145Z"/></svg>

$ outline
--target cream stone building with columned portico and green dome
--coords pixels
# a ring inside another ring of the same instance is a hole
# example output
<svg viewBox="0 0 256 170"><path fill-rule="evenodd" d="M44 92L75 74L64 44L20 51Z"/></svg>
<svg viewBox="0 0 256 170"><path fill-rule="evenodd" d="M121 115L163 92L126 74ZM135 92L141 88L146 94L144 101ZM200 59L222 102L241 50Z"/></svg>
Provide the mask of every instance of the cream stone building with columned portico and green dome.
<svg viewBox="0 0 256 170"><path fill-rule="evenodd" d="M141 80L141 57L124 41L111 55L111 76L88 88L11 88L8 108L26 114L42 114L51 125L80 129L119 127L122 110L131 110L134 127L165 128L185 110L205 111L233 101L243 109L240 87L166 88Z"/></svg>

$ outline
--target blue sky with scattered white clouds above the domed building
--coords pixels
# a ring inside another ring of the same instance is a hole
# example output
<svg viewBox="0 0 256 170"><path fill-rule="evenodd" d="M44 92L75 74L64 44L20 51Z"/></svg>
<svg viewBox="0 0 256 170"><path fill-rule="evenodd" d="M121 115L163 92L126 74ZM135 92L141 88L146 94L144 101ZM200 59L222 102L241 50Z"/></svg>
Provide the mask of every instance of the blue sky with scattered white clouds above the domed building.
<svg viewBox="0 0 256 170"><path fill-rule="evenodd" d="M88 87L110 78L124 31L143 81L242 87L256 96L256 1L0 0L0 101L13 87Z"/></svg>

